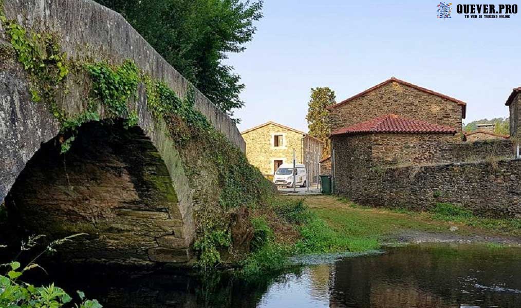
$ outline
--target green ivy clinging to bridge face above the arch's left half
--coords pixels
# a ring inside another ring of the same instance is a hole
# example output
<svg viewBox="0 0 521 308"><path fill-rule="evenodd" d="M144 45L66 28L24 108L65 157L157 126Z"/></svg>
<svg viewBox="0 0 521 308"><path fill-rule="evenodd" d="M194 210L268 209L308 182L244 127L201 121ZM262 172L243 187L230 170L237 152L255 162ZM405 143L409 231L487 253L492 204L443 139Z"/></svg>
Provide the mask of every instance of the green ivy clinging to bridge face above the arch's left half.
<svg viewBox="0 0 521 308"><path fill-rule="evenodd" d="M137 123L137 114L128 109L129 98L137 96L137 86L141 81L140 71L133 61L127 60L121 66L111 66L106 62L75 63L67 59L67 54L61 50L56 34L28 31L15 20L8 20L2 3L0 11L0 22L6 29L18 61L28 72L33 102L46 104L61 124L63 153L69 150L82 124L100 120L100 104L105 118L126 118L128 126ZM92 79L85 111L75 116L68 115L58 104L58 94L68 92L66 79L71 66L79 68L80 73L89 74Z"/></svg>

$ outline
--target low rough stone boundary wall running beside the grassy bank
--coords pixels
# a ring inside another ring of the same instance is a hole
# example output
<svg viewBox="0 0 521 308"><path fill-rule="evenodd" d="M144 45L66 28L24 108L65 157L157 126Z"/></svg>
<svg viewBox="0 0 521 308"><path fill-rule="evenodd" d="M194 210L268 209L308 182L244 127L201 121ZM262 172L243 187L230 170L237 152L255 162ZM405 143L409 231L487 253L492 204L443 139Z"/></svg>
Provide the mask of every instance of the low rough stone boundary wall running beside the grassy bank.
<svg viewBox="0 0 521 308"><path fill-rule="evenodd" d="M476 215L521 217L521 160L337 172L336 193L365 206L428 210L437 203Z"/></svg>

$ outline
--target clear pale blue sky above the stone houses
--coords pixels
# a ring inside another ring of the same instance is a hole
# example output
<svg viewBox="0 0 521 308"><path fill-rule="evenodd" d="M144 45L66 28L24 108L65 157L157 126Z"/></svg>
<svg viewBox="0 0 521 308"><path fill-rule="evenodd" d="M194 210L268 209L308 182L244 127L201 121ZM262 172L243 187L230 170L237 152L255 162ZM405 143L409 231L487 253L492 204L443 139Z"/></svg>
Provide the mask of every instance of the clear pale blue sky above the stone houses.
<svg viewBox="0 0 521 308"><path fill-rule="evenodd" d="M265 0L245 53L239 129L272 120L307 132L310 89L341 101L391 76L467 102L465 122L507 117L521 86L521 12L510 19L436 18L437 1ZM505 2L501 3L515 3ZM521 4L519 4L521 6Z"/></svg>

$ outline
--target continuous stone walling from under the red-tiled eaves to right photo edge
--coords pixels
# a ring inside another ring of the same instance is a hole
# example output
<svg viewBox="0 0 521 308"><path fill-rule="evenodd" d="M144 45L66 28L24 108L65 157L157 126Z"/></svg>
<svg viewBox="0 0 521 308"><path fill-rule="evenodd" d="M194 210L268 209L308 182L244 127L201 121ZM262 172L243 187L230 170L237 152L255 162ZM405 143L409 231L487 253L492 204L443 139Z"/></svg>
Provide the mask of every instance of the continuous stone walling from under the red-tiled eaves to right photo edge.
<svg viewBox="0 0 521 308"><path fill-rule="evenodd" d="M427 210L449 202L479 215L521 216L521 161L511 160L510 140L446 138L450 135L333 136L334 193L366 206Z"/></svg>

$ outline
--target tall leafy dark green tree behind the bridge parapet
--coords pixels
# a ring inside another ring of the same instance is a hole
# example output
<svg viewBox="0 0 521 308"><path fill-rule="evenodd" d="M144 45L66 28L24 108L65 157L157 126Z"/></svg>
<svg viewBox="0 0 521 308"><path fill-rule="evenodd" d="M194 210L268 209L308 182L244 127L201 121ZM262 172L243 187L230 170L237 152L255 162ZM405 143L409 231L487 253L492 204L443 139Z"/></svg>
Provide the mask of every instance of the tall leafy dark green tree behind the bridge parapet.
<svg viewBox="0 0 521 308"><path fill-rule="evenodd" d="M119 12L145 40L219 109L244 106L244 88L233 67L262 18L263 0L96 0Z"/></svg>

